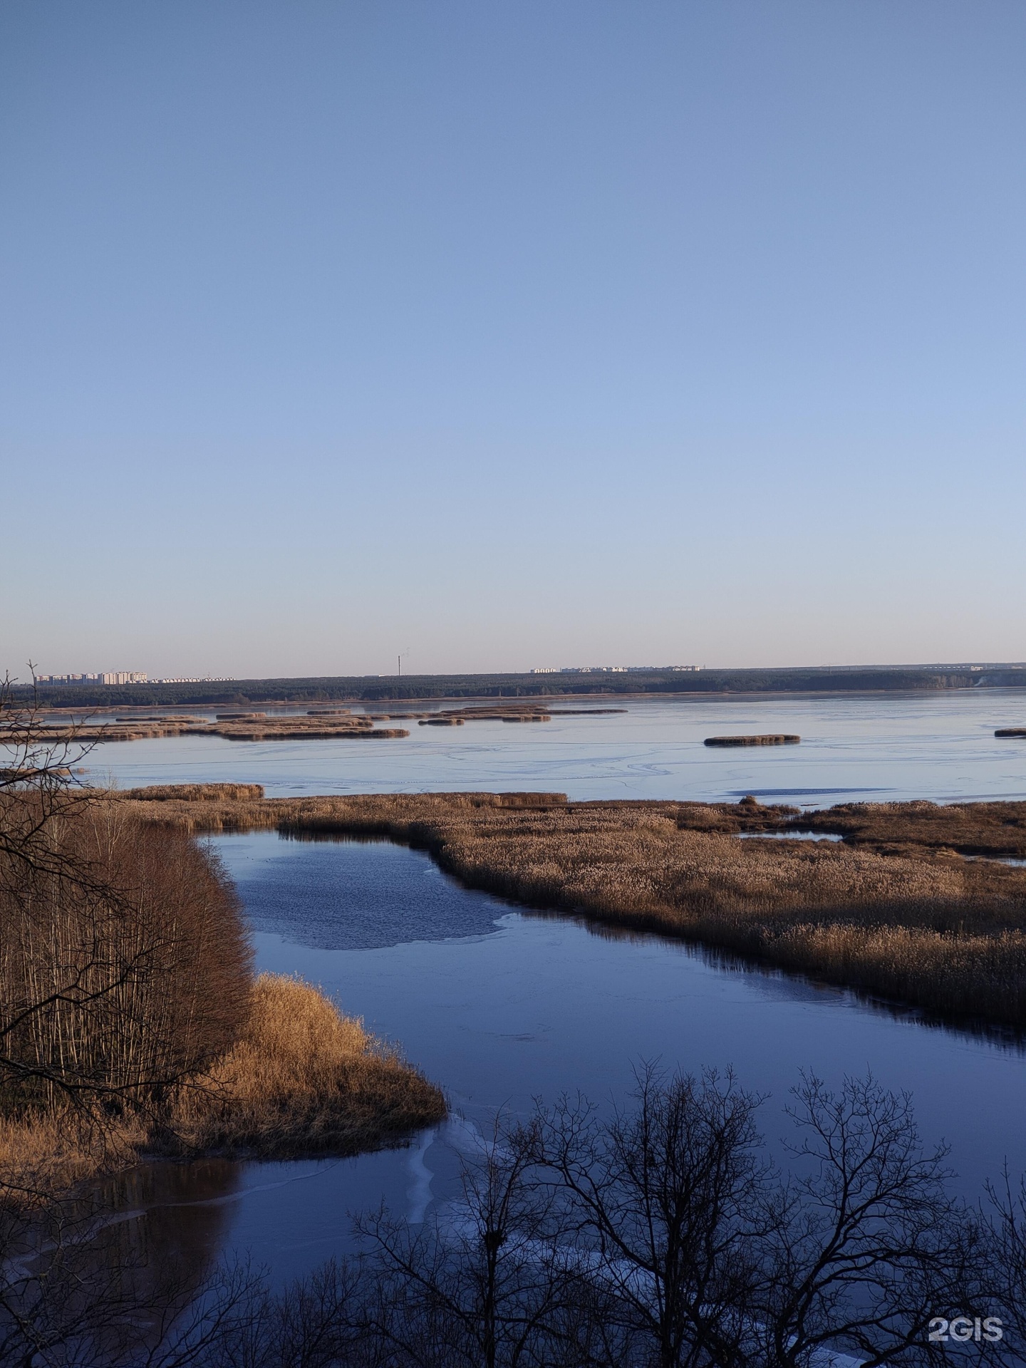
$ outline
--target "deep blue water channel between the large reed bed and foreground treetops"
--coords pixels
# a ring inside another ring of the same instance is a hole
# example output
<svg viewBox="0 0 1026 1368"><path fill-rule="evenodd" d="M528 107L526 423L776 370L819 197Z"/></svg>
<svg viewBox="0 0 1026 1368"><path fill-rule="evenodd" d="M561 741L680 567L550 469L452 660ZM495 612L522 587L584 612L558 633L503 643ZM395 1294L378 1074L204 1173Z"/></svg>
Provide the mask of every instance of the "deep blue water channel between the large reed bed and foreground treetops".
<svg viewBox="0 0 1026 1368"><path fill-rule="evenodd" d="M497 1109L581 1092L622 1101L640 1060L733 1066L772 1096L799 1068L828 1082L871 1068L915 1094L929 1141L945 1138L975 1196L1008 1157L1026 1167L1026 1057L800 979L718 964L657 937L613 938L460 888L417 851L387 843L294 843L275 833L215 843L253 923L260 969L320 984L440 1082L453 1119L408 1149L343 1161L149 1166L131 1194L144 1220L213 1256L248 1253L285 1279L350 1246L350 1212L420 1220L454 1194L460 1153Z"/></svg>

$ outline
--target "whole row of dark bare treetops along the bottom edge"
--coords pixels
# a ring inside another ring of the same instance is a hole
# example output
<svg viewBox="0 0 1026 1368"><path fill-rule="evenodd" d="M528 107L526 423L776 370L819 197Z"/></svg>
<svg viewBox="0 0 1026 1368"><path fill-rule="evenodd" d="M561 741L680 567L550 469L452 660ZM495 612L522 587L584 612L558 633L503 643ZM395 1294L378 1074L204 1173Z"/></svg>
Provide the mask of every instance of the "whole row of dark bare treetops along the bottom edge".
<svg viewBox="0 0 1026 1368"><path fill-rule="evenodd" d="M644 1070L498 1129L462 1201L274 1294L220 1274L160 1368L902 1368L1022 1363L1023 1194L947 1192L906 1097L871 1079L791 1105L787 1171L732 1078ZM959 1332L930 1339L941 1317ZM997 1331L1001 1331L999 1338ZM836 1356L841 1356L840 1358ZM843 1356L851 1356L847 1360ZM127 1357L142 1363L142 1357Z"/></svg>

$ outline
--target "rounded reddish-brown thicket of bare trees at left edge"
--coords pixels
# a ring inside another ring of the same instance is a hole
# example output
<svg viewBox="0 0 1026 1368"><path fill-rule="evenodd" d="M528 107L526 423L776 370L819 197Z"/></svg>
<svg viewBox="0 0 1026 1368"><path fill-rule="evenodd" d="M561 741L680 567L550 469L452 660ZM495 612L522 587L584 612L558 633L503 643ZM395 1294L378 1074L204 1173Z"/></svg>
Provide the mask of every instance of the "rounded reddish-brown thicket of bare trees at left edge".
<svg viewBox="0 0 1026 1368"><path fill-rule="evenodd" d="M224 1052L248 1007L235 893L187 836L71 782L0 699L0 1103L118 1112ZM5 732L5 736L4 736Z"/></svg>

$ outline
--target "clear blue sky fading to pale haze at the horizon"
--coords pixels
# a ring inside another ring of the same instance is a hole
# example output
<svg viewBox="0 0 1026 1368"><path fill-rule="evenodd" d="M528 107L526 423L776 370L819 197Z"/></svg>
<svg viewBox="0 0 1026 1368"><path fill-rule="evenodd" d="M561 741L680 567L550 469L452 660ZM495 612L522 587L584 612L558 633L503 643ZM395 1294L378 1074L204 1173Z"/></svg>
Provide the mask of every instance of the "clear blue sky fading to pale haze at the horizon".
<svg viewBox="0 0 1026 1368"><path fill-rule="evenodd" d="M1026 5L8 0L0 668L1026 658Z"/></svg>

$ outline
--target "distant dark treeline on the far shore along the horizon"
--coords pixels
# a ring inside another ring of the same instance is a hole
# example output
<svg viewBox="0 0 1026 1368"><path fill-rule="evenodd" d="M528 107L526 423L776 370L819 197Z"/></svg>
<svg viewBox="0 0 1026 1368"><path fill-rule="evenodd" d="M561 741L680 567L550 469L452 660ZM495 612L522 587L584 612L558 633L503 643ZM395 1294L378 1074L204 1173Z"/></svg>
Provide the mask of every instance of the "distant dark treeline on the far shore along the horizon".
<svg viewBox="0 0 1026 1368"><path fill-rule="evenodd" d="M231 680L197 684L40 685L40 700L53 707L178 707L220 703L379 703L386 699L543 698L610 694L858 694L866 691L1026 688L1026 665L866 666L821 669L741 669L560 674L410 674L324 679ZM15 689L27 696L29 688Z"/></svg>

